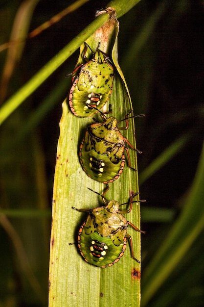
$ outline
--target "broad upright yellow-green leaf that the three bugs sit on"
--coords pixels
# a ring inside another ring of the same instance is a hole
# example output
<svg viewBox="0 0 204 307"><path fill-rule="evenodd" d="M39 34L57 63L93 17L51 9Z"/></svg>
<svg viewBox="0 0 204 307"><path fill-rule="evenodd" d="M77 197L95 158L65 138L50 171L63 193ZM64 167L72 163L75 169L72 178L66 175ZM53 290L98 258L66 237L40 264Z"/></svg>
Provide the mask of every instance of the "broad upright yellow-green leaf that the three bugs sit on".
<svg viewBox="0 0 204 307"><path fill-rule="evenodd" d="M121 72L115 55L116 45L113 50L113 62L119 72L115 74L109 103L113 108L111 115L120 121L132 109L132 104L119 75ZM100 120L100 116L97 116ZM102 193L104 184L89 178L82 170L78 158L79 145L92 122L90 118L74 116L68 109L67 100L63 102L53 191L49 307L103 307L110 305L110 302L112 307L136 307L140 305L140 264L131 257L128 246L118 263L110 268L101 269L84 261L77 244L69 245L76 242L77 232L87 216L71 207L81 209L102 205L101 198L87 187ZM119 126L124 126L123 122ZM130 119L129 128L123 135L136 147L134 131L134 119ZM137 169L136 152L131 149L129 152L132 166ZM132 192L138 192L137 172L126 165L120 178L110 183L106 198L122 204L129 200ZM139 228L139 205L135 203L133 210L126 217ZM140 233L131 227L128 228L128 233L133 238L135 256L140 259Z"/></svg>

